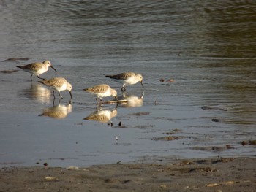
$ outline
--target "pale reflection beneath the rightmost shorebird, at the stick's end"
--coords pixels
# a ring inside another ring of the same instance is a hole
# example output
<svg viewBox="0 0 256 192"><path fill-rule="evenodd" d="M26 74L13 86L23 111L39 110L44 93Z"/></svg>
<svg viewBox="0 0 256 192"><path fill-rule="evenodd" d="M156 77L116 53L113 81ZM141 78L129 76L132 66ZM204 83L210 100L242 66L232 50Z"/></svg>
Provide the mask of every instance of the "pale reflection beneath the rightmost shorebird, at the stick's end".
<svg viewBox="0 0 256 192"><path fill-rule="evenodd" d="M118 101L127 101L120 102L118 106L120 107L141 107L143 106L143 96L144 92L141 93L140 97L135 95L128 95L123 93L123 96L118 96Z"/></svg>

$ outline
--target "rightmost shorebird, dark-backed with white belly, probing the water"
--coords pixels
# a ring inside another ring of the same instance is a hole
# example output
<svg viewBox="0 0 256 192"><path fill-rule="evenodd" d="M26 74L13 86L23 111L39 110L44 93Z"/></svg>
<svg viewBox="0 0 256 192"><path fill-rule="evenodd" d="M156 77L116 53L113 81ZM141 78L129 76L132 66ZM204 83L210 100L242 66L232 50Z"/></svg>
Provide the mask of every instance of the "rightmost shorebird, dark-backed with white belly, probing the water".
<svg viewBox="0 0 256 192"><path fill-rule="evenodd" d="M123 92L126 91L126 88L124 88L125 85L133 85L133 84L136 84L137 82L140 82L140 84L144 88L142 83L143 77L139 73L126 72L121 74L106 75L106 77L109 77L110 79L123 84L121 88L121 91Z"/></svg>

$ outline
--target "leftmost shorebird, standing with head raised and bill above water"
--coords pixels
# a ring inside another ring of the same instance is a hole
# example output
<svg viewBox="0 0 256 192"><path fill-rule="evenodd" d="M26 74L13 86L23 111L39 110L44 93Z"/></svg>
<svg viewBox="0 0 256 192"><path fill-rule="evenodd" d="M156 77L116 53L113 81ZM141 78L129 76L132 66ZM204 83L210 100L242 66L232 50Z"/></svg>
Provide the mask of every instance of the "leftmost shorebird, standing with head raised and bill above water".
<svg viewBox="0 0 256 192"><path fill-rule="evenodd" d="M45 60L42 63L36 62L33 64L27 64L24 66L17 66L20 69L23 69L25 72L29 72L31 74L30 80L32 81L33 74L36 74L39 79L45 80L44 78L39 77L39 74L43 74L48 71L49 67L53 68L54 71L57 70L50 64L50 61Z"/></svg>

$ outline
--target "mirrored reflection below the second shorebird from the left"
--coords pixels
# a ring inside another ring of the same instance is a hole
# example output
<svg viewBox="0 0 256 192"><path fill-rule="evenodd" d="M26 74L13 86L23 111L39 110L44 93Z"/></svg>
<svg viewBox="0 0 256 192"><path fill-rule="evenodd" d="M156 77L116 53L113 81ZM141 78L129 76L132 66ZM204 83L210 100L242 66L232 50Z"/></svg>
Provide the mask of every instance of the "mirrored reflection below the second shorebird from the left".
<svg viewBox="0 0 256 192"><path fill-rule="evenodd" d="M53 107L49 107L45 110L43 110L42 114L38 116L48 116L50 118L55 118L55 119L63 119L66 118L67 115L72 112L72 104L71 101L69 101L69 104L61 104L61 99L59 99L58 104L54 104L53 100Z"/></svg>

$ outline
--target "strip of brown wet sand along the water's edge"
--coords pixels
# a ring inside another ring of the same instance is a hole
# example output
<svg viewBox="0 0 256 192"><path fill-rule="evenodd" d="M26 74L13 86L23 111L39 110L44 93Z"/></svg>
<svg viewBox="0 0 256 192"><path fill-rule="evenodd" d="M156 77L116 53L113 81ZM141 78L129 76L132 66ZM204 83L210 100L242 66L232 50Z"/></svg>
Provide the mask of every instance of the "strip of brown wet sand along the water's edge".
<svg viewBox="0 0 256 192"><path fill-rule="evenodd" d="M169 160L87 168L9 167L1 191L255 191L255 158Z"/></svg>

